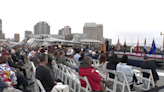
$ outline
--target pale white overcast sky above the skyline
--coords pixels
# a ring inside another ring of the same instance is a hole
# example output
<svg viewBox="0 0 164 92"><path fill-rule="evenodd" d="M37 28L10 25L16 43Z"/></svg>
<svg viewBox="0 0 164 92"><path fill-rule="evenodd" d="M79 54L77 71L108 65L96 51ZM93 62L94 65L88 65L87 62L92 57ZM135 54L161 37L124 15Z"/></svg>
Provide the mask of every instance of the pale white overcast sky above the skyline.
<svg viewBox="0 0 164 92"><path fill-rule="evenodd" d="M83 33L85 23L103 24L103 36L116 44L163 43L164 0L0 0L0 19L6 38L34 30L39 21L50 25L51 34L64 26Z"/></svg>

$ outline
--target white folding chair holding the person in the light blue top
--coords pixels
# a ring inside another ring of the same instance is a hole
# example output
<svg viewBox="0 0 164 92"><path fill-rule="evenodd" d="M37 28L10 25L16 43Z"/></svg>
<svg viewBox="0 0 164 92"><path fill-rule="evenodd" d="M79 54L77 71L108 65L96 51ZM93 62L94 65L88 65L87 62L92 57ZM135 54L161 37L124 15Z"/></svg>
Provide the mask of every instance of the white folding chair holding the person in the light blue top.
<svg viewBox="0 0 164 92"><path fill-rule="evenodd" d="M132 83L128 83L125 74L122 73L122 72L117 72L116 71L115 75L116 75L115 77L117 77L116 81L115 81L116 82L116 87L118 86L120 88L121 92L131 92L131 89L130 89L129 85L131 85ZM122 78L123 81L120 81L120 78ZM125 87L127 87L126 91L125 91Z"/></svg>

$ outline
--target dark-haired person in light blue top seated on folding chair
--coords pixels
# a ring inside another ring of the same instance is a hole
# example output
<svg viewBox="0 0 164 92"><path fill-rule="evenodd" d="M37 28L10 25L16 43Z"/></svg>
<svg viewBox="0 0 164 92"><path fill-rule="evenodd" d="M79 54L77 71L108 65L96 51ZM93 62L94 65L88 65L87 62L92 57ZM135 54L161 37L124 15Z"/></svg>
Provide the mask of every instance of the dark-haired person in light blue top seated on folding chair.
<svg viewBox="0 0 164 92"><path fill-rule="evenodd" d="M127 61L128 61L128 56L124 55L122 57L121 62L117 64L116 71L124 73L128 83L132 83L135 81L137 85L141 85L142 83L139 83L131 67L127 65ZM118 76L118 78L120 81L123 82L124 79L122 77ZM133 89L133 84L130 85L131 91L135 91L135 89Z"/></svg>

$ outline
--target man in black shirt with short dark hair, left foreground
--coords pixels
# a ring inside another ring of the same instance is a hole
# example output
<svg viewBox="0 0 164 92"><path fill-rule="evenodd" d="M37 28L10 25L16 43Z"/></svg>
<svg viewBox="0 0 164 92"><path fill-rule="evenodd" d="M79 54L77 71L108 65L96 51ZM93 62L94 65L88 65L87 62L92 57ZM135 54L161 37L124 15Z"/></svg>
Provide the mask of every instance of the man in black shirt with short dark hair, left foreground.
<svg viewBox="0 0 164 92"><path fill-rule="evenodd" d="M40 54L40 64L36 68L36 78L41 81L46 92L50 92L57 82L53 80L50 71L45 67L47 63L47 55L44 53Z"/></svg>

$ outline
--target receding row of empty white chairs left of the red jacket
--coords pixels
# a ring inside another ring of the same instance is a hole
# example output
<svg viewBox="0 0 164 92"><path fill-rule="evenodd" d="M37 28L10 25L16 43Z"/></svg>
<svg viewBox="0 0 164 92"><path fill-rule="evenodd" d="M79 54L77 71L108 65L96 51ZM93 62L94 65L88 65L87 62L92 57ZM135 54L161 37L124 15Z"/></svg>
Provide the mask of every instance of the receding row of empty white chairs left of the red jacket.
<svg viewBox="0 0 164 92"><path fill-rule="evenodd" d="M86 77L81 77L78 73L62 64L54 63L54 71L57 74L56 77L61 79L65 84L69 85L71 92L91 92L89 81ZM82 87L80 80L86 82L86 87Z"/></svg>

